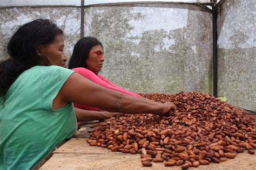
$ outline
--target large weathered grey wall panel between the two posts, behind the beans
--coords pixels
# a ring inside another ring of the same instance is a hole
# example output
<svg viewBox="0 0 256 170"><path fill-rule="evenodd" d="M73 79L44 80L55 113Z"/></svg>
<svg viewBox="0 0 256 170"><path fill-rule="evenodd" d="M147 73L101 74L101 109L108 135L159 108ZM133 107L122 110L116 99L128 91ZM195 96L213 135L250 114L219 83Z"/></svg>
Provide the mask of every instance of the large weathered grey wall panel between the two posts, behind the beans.
<svg viewBox="0 0 256 170"><path fill-rule="evenodd" d="M195 5L94 6L85 36L103 42L102 75L137 93L212 94L212 18Z"/></svg>

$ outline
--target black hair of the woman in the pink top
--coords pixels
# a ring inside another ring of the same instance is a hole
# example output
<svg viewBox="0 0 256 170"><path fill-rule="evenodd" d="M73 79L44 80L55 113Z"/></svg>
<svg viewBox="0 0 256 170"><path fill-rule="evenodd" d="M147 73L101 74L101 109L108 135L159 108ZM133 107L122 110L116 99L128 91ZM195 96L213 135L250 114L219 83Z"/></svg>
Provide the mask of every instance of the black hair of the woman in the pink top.
<svg viewBox="0 0 256 170"><path fill-rule="evenodd" d="M77 67L87 68L86 59L89 56L90 50L98 44L103 49L102 43L95 37L84 37L78 40L69 59L69 69Z"/></svg>

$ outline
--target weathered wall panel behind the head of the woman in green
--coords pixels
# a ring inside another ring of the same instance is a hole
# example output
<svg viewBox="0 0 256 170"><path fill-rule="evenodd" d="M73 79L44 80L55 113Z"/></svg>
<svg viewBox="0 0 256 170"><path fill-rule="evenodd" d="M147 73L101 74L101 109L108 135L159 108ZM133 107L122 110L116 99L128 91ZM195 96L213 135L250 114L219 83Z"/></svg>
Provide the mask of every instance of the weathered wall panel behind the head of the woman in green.
<svg viewBox="0 0 256 170"><path fill-rule="evenodd" d="M44 18L55 22L65 34L65 52L70 56L80 38L80 8L0 8L0 59L8 57L6 46L19 26L34 19Z"/></svg>

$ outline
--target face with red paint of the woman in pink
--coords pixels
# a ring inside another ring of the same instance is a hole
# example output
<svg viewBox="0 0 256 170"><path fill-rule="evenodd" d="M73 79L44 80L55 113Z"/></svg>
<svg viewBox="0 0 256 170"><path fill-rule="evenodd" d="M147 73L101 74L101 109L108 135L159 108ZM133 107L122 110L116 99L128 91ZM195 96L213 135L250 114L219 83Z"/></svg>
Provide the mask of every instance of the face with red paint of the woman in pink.
<svg viewBox="0 0 256 170"><path fill-rule="evenodd" d="M98 73L102 69L104 62L102 46L95 45L91 48L88 58L86 59L87 69L93 73Z"/></svg>

